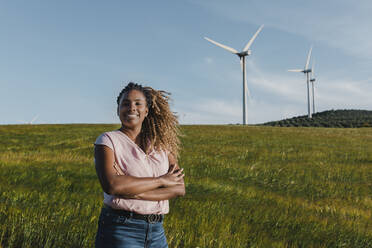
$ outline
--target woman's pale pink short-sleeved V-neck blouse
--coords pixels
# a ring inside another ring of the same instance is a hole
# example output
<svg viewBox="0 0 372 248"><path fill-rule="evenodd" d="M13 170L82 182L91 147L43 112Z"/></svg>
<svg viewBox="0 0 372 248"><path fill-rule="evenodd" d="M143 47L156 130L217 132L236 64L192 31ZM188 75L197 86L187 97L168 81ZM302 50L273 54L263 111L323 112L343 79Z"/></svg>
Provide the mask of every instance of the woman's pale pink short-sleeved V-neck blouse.
<svg viewBox="0 0 372 248"><path fill-rule="evenodd" d="M168 172L168 154L165 151L145 152L120 130L101 134L95 145L105 145L114 151L115 161L126 175L136 177L159 177ZM144 201L124 199L103 193L103 202L115 209L124 209L139 214L167 214L168 200Z"/></svg>

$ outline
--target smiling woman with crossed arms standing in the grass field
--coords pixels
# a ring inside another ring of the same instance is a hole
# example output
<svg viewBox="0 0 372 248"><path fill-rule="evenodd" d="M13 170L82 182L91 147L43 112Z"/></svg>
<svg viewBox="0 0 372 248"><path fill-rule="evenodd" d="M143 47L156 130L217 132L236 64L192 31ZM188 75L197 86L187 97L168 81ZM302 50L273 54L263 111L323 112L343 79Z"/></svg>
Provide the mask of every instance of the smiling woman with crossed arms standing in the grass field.
<svg viewBox="0 0 372 248"><path fill-rule="evenodd" d="M119 130L100 135L95 164L104 191L96 247L168 247L168 200L185 194L178 121L168 93L129 83L117 98Z"/></svg>

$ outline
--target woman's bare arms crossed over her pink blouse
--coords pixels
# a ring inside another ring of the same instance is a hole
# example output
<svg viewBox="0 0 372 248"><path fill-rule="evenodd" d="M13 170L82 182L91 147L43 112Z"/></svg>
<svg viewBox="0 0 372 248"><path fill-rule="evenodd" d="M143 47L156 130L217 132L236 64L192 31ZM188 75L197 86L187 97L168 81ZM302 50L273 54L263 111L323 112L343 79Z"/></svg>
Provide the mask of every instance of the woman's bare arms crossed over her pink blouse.
<svg viewBox="0 0 372 248"><path fill-rule="evenodd" d="M134 177L118 175L113 167L114 153L104 146L94 149L96 172L103 191L127 199L149 201L168 200L185 195L183 169L177 165L173 156L169 156L169 170L160 177Z"/></svg>

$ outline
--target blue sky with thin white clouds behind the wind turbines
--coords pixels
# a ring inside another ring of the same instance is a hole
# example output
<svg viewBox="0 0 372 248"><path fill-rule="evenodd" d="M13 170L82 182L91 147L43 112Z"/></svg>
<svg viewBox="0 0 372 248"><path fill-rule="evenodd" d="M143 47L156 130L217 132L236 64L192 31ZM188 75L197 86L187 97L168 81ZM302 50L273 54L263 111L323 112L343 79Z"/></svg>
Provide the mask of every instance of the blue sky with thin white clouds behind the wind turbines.
<svg viewBox="0 0 372 248"><path fill-rule="evenodd" d="M129 81L172 93L181 123L248 123L307 113L302 68L313 45L316 109L372 109L371 1L1 1L0 124L118 123Z"/></svg>

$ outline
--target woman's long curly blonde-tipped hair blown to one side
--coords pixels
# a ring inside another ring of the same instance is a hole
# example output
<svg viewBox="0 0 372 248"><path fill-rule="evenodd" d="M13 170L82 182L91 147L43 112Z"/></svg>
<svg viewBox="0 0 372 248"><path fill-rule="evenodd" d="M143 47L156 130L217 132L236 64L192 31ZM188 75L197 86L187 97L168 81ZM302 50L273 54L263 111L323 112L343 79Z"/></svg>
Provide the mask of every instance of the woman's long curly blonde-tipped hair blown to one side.
<svg viewBox="0 0 372 248"><path fill-rule="evenodd" d="M152 150L165 150L178 158L181 145L180 130L178 118L169 107L170 93L130 82L120 92L117 98L118 106L121 97L132 90L138 90L144 94L149 110L142 123L141 147L144 148L146 154Z"/></svg>

